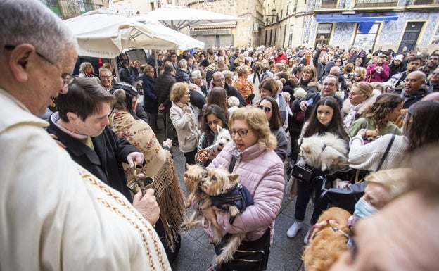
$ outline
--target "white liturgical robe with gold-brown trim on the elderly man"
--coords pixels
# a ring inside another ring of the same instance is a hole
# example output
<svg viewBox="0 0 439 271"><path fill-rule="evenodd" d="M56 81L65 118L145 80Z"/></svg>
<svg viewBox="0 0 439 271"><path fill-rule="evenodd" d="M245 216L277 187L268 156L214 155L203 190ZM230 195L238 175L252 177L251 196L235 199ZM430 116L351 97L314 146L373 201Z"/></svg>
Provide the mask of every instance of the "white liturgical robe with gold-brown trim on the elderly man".
<svg viewBox="0 0 439 271"><path fill-rule="evenodd" d="M155 230L0 89L0 270L169 270Z"/></svg>

